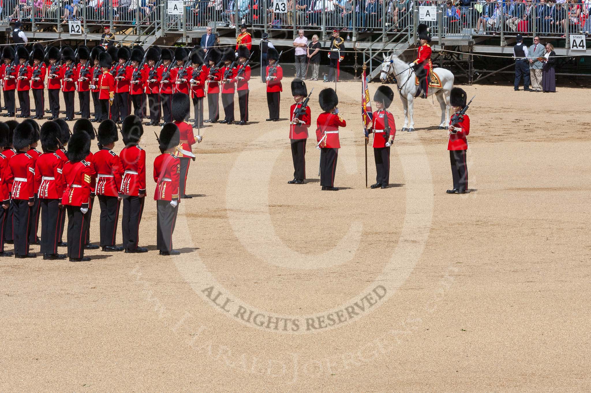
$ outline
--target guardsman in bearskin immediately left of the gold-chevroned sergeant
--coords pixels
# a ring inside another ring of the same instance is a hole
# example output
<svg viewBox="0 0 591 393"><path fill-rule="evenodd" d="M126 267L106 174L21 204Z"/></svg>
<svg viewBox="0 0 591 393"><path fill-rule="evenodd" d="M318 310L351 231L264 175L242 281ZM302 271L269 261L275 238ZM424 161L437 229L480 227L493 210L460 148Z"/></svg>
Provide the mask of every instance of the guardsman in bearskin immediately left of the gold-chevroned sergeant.
<svg viewBox="0 0 591 393"><path fill-rule="evenodd" d="M65 259L66 255L57 253L59 241L59 218L61 197L64 193L64 161L56 153L61 136L61 128L54 121L46 121L41 126L41 148L43 154L35 163L35 191L41 210L41 253L43 259Z"/></svg>

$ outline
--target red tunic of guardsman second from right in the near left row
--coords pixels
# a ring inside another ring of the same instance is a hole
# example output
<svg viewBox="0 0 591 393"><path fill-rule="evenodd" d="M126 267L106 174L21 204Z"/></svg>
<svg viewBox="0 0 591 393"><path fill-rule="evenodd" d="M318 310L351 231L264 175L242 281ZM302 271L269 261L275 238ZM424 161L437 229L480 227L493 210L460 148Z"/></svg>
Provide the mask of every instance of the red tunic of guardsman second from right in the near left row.
<svg viewBox="0 0 591 393"><path fill-rule="evenodd" d="M146 193L146 152L137 144L125 146L119 153L123 180L119 193L138 196Z"/></svg>

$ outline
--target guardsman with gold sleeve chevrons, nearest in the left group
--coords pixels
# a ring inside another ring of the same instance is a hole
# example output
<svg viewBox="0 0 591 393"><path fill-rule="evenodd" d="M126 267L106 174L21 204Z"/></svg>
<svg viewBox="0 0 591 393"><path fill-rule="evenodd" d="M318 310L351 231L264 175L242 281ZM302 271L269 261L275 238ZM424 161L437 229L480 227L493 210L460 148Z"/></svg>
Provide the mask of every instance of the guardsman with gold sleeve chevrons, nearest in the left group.
<svg viewBox="0 0 591 393"><path fill-rule="evenodd" d="M90 163L85 157L90 151L90 138L86 133L76 133L70 138L68 158L62 169L64 192L61 204L68 213L68 256L70 262L90 260L84 256L84 242L88 230L88 199L90 196Z"/></svg>

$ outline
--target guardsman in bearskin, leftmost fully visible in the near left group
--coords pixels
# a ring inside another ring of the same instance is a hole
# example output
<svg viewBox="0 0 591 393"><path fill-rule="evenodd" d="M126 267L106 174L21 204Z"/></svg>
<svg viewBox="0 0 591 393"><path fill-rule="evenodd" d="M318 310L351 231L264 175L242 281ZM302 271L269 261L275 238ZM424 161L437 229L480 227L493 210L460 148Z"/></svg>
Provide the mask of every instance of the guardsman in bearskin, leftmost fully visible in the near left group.
<svg viewBox="0 0 591 393"><path fill-rule="evenodd" d="M10 158L5 172L5 181L12 184L14 255L17 258L37 256L29 253L31 207L35 203L35 163L33 157L27 154L27 150L34 131L28 122L23 122L14 129L12 144L17 154Z"/></svg>

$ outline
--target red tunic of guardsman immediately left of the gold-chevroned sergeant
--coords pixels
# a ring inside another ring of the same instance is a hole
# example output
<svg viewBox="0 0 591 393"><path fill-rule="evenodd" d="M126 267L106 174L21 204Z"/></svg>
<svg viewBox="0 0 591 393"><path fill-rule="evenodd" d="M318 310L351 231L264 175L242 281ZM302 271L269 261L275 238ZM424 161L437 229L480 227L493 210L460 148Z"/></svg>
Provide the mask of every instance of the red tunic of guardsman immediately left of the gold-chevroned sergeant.
<svg viewBox="0 0 591 393"><path fill-rule="evenodd" d="M64 193L64 162L55 151L46 151L35 163L35 192L43 199L61 199Z"/></svg>

